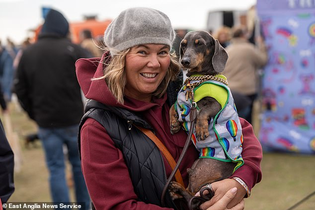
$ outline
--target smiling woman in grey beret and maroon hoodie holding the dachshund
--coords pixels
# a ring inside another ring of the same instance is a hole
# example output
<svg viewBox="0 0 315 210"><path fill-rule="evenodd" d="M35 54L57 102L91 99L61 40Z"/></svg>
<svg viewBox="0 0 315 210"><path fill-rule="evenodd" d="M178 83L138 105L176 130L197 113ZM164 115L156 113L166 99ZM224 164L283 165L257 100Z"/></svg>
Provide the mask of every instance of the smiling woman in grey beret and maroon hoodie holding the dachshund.
<svg viewBox="0 0 315 210"><path fill-rule="evenodd" d="M161 207L162 190L172 170L154 142L137 128L151 129L178 160L187 134L181 130L171 135L169 128L169 108L174 102L169 96L176 90L167 85L179 72L170 53L174 37L164 13L130 8L106 29L108 51L103 57L80 59L76 64L85 97L93 99L87 102L85 109L89 111L80 124L79 147L83 175L96 210L187 208L172 202L169 195L167 208ZM252 127L242 119L241 124L245 164L231 179L212 184L215 197L204 203L203 209L226 210L236 204L233 210L243 209L246 190L239 182L247 184L249 193L261 180L261 146ZM186 170L197 157L191 144L179 167L186 186Z"/></svg>

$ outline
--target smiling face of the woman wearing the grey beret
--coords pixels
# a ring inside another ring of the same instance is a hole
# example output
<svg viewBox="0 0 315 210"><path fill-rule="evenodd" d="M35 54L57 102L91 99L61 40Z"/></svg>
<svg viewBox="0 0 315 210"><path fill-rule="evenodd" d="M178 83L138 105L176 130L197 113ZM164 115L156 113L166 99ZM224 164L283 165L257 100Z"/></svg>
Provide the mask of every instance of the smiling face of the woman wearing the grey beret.
<svg viewBox="0 0 315 210"><path fill-rule="evenodd" d="M169 47L145 44L131 48L126 55L125 95L150 102L170 65Z"/></svg>

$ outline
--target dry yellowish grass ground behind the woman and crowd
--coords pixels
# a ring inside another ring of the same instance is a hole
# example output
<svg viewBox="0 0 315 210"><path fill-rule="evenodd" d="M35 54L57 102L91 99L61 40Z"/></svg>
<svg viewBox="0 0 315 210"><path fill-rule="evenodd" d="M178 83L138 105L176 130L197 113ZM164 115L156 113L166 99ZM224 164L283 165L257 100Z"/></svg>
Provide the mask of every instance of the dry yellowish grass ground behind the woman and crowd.
<svg viewBox="0 0 315 210"><path fill-rule="evenodd" d="M14 174L15 192L9 202L50 202L48 171L41 144L37 141L28 148L24 145L23 137L35 132L36 126L12 104L10 110L13 130L19 137L22 162L20 170ZM315 191L315 155L264 153L261 167L262 181L245 200L245 210L288 210ZM69 186L73 198L71 179ZM315 210L315 196L295 210Z"/></svg>

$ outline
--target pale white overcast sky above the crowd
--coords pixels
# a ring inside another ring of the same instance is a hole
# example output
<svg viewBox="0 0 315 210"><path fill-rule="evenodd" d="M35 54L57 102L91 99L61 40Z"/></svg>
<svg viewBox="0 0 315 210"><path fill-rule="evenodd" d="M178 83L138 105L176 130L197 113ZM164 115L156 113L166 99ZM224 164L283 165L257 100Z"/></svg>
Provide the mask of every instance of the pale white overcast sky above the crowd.
<svg viewBox="0 0 315 210"><path fill-rule="evenodd" d="M52 7L69 22L83 20L83 15L97 15L98 20L114 19L122 10L144 6L168 15L174 28L206 30L209 11L247 10L256 0L0 0L0 40L9 37L21 42L43 22L42 7Z"/></svg>

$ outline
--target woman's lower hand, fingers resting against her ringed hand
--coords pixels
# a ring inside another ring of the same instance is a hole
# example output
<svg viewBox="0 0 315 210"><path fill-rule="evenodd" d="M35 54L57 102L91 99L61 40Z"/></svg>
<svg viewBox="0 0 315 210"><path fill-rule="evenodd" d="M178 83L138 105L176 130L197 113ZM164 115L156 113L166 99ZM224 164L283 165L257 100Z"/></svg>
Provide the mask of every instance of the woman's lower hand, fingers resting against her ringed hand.
<svg viewBox="0 0 315 210"><path fill-rule="evenodd" d="M234 187L229 190L218 202L216 202L213 206L208 208L207 210L243 210L244 209L244 199L240 201L236 206L231 209L227 208L227 205L235 198L237 192L237 188Z"/></svg>

